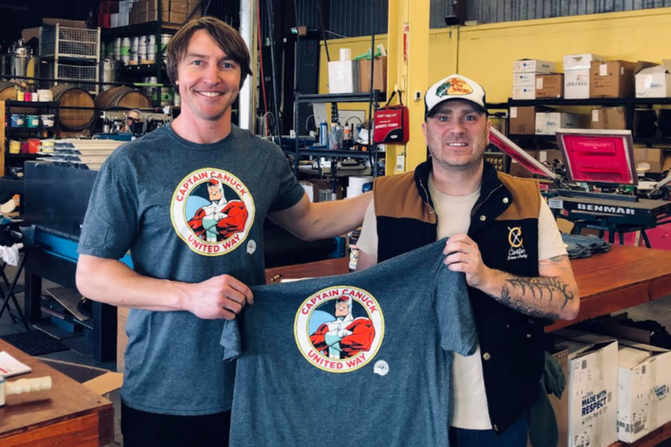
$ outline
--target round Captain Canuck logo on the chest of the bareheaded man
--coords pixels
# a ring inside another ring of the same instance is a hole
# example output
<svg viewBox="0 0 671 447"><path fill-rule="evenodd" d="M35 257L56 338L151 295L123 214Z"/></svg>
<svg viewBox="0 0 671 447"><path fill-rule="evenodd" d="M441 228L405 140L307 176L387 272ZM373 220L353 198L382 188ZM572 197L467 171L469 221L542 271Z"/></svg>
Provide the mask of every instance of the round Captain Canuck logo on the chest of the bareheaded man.
<svg viewBox="0 0 671 447"><path fill-rule="evenodd" d="M205 168L187 175L175 189L171 220L189 249L203 256L221 256L245 242L254 210L254 199L238 177Z"/></svg>

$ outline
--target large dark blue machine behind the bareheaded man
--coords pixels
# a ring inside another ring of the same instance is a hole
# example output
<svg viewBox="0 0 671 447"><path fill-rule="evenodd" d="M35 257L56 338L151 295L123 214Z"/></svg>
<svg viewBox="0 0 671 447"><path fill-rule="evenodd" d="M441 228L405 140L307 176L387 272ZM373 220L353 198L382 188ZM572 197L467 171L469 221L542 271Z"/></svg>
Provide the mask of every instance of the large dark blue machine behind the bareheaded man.
<svg viewBox="0 0 671 447"><path fill-rule="evenodd" d="M77 247L82 223L98 170L122 141L58 140L55 152L40 161L25 163L24 212L34 224L35 242L25 266L25 317L29 324L41 323L42 279L76 291ZM271 221L264 223L264 258L268 268L321 261L345 256L342 237L303 242ZM132 268L130 254L120 261ZM74 319L84 326L99 362L115 360L117 342L116 307L93 302L92 318Z"/></svg>

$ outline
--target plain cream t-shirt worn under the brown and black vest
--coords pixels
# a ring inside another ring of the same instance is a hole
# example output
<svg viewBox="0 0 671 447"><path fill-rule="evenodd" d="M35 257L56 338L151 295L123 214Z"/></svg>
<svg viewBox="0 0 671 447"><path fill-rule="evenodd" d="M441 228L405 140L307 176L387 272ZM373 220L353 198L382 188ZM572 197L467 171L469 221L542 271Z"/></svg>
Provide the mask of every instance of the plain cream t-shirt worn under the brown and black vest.
<svg viewBox="0 0 671 447"><path fill-rule="evenodd" d="M468 233L470 212L480 196L476 191L468 196L448 196L436 189L429 177L428 188L438 214L438 240ZM377 261L377 220L375 203L370 201L357 242L359 250ZM541 200L538 215L538 259L553 258L566 253L561 233L545 200ZM491 430L489 406L484 391L480 348L469 357L454 354L452 362L452 427L469 430Z"/></svg>

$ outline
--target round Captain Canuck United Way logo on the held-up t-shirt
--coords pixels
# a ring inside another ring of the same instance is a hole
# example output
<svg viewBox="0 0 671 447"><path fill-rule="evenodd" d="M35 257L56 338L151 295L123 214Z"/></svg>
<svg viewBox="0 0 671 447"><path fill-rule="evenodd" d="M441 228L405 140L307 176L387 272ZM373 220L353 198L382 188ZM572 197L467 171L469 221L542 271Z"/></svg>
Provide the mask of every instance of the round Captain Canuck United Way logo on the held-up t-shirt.
<svg viewBox="0 0 671 447"><path fill-rule="evenodd" d="M352 372L373 360L382 346L384 316L373 295L361 288L324 288L298 308L294 337L310 365Z"/></svg>

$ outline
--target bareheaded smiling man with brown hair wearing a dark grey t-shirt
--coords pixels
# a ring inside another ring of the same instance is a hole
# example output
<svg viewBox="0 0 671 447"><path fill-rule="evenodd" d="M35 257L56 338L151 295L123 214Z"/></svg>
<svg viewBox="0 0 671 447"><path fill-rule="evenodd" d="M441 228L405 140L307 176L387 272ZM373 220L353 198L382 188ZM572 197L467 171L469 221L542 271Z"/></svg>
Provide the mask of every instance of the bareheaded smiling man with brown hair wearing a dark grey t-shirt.
<svg viewBox="0 0 671 447"><path fill-rule="evenodd" d="M370 196L312 205L282 150L231 124L250 73L240 35L213 17L168 43L182 112L118 148L96 180L79 241L77 284L130 307L122 388L124 445L225 446L234 366L224 319L264 284L266 216L298 237L361 225ZM134 270L118 259L130 251Z"/></svg>

